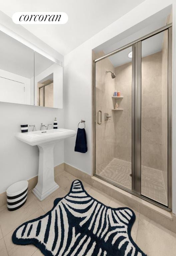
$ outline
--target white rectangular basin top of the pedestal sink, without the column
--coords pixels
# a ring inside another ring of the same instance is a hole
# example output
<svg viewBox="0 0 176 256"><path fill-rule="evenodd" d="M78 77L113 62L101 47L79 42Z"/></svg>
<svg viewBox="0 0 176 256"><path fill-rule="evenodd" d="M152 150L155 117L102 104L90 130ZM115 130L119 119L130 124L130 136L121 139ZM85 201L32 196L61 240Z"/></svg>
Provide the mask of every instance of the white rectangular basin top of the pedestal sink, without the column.
<svg viewBox="0 0 176 256"><path fill-rule="evenodd" d="M75 136L76 132L67 129L50 129L35 132L18 132L15 137L31 145L46 145L50 142L61 141L63 139Z"/></svg>

